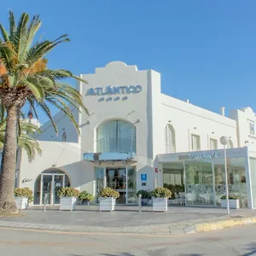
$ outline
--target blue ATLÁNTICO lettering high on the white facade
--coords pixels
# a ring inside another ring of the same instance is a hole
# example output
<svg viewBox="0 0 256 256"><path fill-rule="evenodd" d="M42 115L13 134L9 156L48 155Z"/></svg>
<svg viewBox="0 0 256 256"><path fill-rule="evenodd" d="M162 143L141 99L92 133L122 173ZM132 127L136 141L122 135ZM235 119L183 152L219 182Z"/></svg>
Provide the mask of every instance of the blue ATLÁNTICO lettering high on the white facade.
<svg viewBox="0 0 256 256"><path fill-rule="evenodd" d="M106 88L96 87L90 88L86 92L86 96L104 96L104 95L116 95L116 94L137 94L143 90L142 85L128 85L128 86L111 86Z"/></svg>

